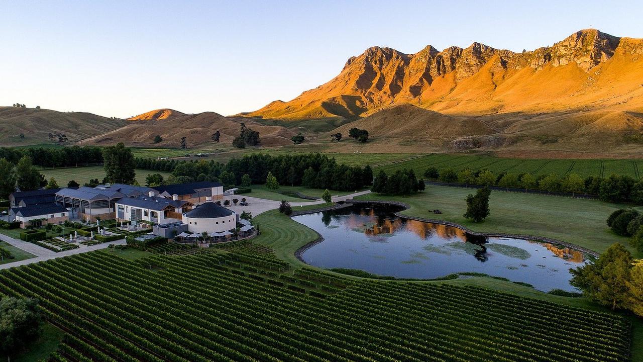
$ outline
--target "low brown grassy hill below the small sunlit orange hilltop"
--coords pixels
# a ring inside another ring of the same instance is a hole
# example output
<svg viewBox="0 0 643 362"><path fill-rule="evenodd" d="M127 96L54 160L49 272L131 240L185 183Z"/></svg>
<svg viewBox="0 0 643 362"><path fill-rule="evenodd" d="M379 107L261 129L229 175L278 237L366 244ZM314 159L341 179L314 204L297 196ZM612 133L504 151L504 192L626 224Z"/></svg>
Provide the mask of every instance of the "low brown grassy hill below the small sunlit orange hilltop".
<svg viewBox="0 0 643 362"><path fill-rule="evenodd" d="M154 113L143 113L144 115ZM176 112L176 111L174 111ZM176 112L180 113L180 112ZM284 146L292 144L290 140L295 133L280 126L266 126L253 120L239 117L224 117L219 113L203 112L194 115L176 115L176 117L137 120L127 126L114 129L102 135L87 138L80 144L109 145L123 142L127 146L160 146L176 147L181 144L181 138L186 137L189 148L210 146L217 143L212 140L215 131L221 132L220 144L228 147L232 140L239 135L240 124L244 122L248 128L260 133L261 146ZM154 137L161 136L163 141L154 143Z"/></svg>

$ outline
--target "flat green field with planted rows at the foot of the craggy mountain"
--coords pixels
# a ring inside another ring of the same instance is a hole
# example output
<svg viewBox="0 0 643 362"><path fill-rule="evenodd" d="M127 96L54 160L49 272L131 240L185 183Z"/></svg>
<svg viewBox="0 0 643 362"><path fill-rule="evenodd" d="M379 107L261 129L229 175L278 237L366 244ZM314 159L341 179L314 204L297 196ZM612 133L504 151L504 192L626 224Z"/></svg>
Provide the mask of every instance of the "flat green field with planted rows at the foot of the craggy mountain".
<svg viewBox="0 0 643 362"><path fill-rule="evenodd" d="M416 175L423 175L424 171L435 166L437 169L451 168L455 171L470 168L474 171L489 169L493 173L531 173L534 176L556 173L565 176L576 173L580 176L609 176L628 175L635 179L640 178L639 169L643 169L643 160L561 160L561 159L515 159L498 158L491 156L471 156L457 154L425 155L412 160L376 167L386 173L395 172L397 169L412 168Z"/></svg>

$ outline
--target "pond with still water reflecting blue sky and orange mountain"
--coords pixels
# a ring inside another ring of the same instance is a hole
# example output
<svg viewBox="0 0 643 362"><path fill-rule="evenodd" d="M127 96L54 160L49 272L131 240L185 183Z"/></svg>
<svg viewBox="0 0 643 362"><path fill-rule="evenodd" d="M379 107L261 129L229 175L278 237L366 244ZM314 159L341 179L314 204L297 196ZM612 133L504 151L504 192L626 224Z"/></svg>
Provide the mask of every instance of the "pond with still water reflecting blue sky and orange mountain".
<svg viewBox="0 0 643 362"><path fill-rule="evenodd" d="M316 267L361 269L395 278L478 272L529 283L540 291L577 291L569 283L569 269L583 265L582 252L531 240L472 236L457 227L395 216L401 210L355 204L294 216L323 236L303 252L302 260Z"/></svg>

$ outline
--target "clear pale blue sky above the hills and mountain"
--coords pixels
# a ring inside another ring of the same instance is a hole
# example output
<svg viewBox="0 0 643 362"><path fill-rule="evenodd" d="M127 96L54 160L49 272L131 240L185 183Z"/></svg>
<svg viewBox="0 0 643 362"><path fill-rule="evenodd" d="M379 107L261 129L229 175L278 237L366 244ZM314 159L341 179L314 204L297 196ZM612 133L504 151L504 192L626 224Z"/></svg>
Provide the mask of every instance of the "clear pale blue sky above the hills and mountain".
<svg viewBox="0 0 643 362"><path fill-rule="evenodd" d="M0 0L0 106L126 118L291 100L370 46L521 52L584 28L643 38L642 1Z"/></svg>

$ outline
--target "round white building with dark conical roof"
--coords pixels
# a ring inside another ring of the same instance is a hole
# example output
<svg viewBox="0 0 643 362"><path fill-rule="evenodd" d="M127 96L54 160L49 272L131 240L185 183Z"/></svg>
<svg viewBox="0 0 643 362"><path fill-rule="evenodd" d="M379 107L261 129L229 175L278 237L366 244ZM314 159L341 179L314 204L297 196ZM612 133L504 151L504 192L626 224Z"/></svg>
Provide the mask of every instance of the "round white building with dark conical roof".
<svg viewBox="0 0 643 362"><path fill-rule="evenodd" d="M214 202L205 202L183 213L183 224L190 233L222 233L237 227L237 214Z"/></svg>

